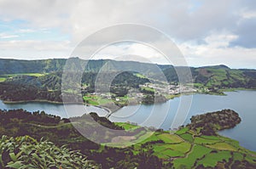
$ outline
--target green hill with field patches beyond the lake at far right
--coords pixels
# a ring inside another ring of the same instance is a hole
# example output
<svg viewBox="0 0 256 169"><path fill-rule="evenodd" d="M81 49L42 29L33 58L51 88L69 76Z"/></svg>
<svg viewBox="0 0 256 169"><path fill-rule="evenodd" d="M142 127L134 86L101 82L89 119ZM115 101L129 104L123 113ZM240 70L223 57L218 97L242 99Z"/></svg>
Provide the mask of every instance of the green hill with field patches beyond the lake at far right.
<svg viewBox="0 0 256 169"><path fill-rule="evenodd" d="M168 82L178 82L175 69L183 69L183 67L171 67L163 70ZM193 82L200 83L208 88L256 88L256 70L230 69L225 65L204 66L199 68L190 67L190 70Z"/></svg>

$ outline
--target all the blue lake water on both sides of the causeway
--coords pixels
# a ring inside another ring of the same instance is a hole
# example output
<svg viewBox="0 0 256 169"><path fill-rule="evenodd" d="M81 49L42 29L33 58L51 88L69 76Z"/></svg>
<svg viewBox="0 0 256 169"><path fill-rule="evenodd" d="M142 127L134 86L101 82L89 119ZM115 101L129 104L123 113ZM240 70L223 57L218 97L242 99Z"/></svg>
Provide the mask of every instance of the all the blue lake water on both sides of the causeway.
<svg viewBox="0 0 256 169"><path fill-rule="evenodd" d="M241 116L241 123L236 127L219 132L229 138L238 140L241 146L256 151L256 91L228 92L227 96L194 94L193 97L181 96L167 101L164 104L153 105L130 105L126 106L110 116L111 121L131 121L147 127L157 127L168 130L177 123L187 124L192 115L203 114L216 110L236 110ZM191 98L192 97L192 98ZM191 103L189 100L191 99ZM185 100L185 101L181 101ZM187 111L184 108L189 108ZM84 105L64 105L47 103L26 103L26 104L3 104L0 102L0 109L24 109L28 111L44 110L48 114L60 115L61 117L77 116L83 113ZM73 112L72 115L68 112ZM97 112L99 115L106 115L106 111L97 107L87 106L87 111ZM178 111L177 111L178 110ZM177 114L178 112L178 114ZM173 119L175 119L174 121Z"/></svg>

